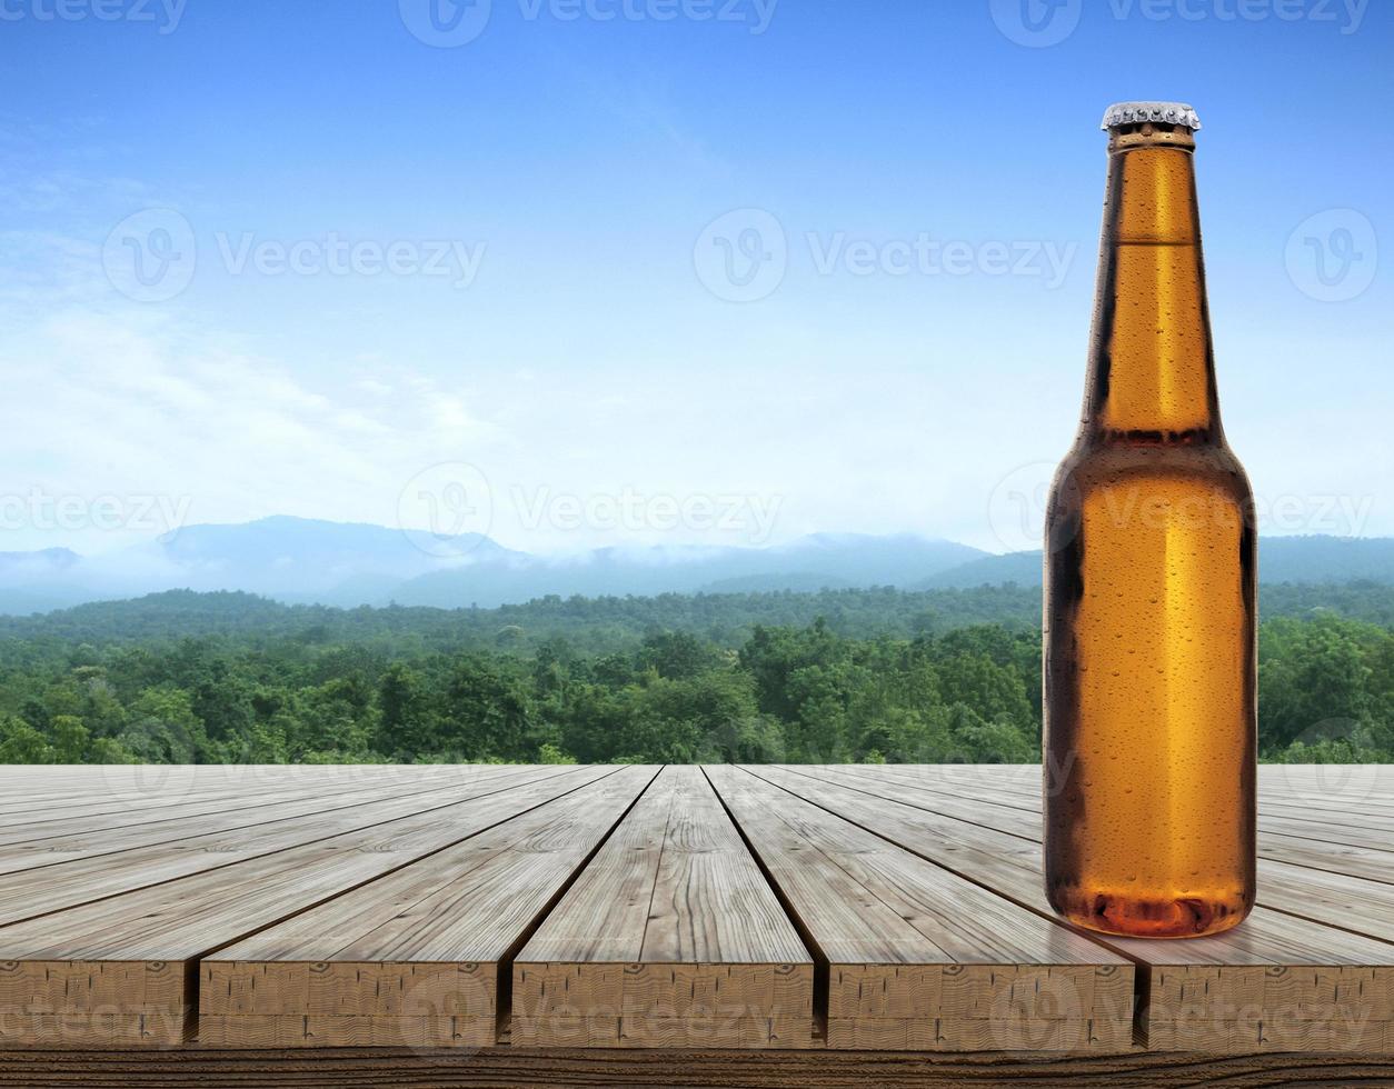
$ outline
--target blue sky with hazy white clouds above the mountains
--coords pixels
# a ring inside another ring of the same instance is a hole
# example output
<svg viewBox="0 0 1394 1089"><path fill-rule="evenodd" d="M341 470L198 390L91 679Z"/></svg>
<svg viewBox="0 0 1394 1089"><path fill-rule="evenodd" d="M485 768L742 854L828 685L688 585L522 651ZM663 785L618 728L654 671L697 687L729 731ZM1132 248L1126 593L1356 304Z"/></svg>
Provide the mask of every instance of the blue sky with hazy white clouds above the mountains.
<svg viewBox="0 0 1394 1089"><path fill-rule="evenodd" d="M6 547L1025 547L1132 98L1266 528L1394 533L1394 11L1025 4L0 0Z"/></svg>

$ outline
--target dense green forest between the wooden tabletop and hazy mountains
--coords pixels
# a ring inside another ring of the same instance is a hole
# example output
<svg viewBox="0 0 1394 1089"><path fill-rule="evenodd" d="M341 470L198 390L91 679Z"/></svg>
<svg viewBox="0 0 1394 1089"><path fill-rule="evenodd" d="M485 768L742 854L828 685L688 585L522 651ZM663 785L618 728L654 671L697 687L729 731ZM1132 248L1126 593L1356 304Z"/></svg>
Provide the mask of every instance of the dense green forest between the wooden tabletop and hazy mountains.
<svg viewBox="0 0 1394 1089"><path fill-rule="evenodd" d="M1394 587L1264 586L1270 761L1394 761ZM1040 591L0 618L0 763L1030 763Z"/></svg>

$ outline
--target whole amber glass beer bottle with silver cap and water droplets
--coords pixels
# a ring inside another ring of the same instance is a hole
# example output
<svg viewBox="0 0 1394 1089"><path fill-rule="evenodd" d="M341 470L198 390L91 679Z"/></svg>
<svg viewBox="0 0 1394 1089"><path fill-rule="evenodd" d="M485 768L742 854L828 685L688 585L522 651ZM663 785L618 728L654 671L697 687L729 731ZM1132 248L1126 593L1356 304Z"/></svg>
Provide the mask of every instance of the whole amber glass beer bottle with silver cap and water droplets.
<svg viewBox="0 0 1394 1089"><path fill-rule="evenodd" d="M1188 106L1112 107L1085 414L1046 519L1046 891L1135 937L1255 894L1253 494L1220 427Z"/></svg>

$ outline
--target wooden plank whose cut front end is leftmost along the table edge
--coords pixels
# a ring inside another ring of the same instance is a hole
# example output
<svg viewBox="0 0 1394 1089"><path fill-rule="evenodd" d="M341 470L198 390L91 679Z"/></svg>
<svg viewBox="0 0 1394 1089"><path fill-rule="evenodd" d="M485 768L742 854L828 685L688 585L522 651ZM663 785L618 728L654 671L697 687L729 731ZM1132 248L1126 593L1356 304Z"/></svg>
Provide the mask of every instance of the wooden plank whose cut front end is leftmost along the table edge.
<svg viewBox="0 0 1394 1089"><path fill-rule="evenodd" d="M170 1046L201 957L613 772L567 770L219 870L0 929L0 1042Z"/></svg>

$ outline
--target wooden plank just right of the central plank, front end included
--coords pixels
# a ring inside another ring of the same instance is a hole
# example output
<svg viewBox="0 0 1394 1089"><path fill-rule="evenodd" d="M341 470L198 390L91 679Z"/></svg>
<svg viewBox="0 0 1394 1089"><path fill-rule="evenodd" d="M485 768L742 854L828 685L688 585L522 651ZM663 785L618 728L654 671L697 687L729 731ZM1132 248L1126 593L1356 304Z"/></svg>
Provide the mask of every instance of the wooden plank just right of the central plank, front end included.
<svg viewBox="0 0 1394 1089"><path fill-rule="evenodd" d="M828 973L829 1047L1133 1046L1133 966L730 767L705 770Z"/></svg>

